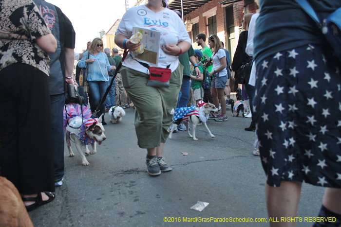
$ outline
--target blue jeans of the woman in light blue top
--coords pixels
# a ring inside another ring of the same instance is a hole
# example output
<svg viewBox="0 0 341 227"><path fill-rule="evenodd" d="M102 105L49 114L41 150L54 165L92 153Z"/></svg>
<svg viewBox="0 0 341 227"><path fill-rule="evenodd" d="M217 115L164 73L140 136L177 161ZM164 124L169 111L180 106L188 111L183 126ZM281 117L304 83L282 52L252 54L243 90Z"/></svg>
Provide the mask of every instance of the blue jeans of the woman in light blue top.
<svg viewBox="0 0 341 227"><path fill-rule="evenodd" d="M88 81L89 85L89 98L90 98L90 107L91 111L95 113L99 102L104 97L104 93L108 88L108 81ZM103 103L99 107L99 114L96 117L99 117L103 114L102 120L104 121L104 113L105 113L105 104Z"/></svg>

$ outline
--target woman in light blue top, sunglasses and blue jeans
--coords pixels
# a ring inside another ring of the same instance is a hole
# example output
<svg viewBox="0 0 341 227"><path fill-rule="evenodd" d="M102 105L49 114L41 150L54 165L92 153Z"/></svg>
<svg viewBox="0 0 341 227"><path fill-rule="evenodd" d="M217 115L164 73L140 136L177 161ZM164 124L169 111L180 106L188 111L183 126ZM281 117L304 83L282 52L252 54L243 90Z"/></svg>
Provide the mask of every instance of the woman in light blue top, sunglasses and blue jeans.
<svg viewBox="0 0 341 227"><path fill-rule="evenodd" d="M89 54L88 54L89 52ZM90 50L83 53L82 60L78 63L80 68L87 67L87 78L89 85L89 101L91 111L94 113L99 102L102 100L106 89L108 88L108 70L113 71L114 66L109 64L107 55L103 52L103 42L100 38L94 38L90 44ZM89 58L88 58L89 55ZM105 104L103 103L99 109L99 117L102 116L102 124L104 121Z"/></svg>

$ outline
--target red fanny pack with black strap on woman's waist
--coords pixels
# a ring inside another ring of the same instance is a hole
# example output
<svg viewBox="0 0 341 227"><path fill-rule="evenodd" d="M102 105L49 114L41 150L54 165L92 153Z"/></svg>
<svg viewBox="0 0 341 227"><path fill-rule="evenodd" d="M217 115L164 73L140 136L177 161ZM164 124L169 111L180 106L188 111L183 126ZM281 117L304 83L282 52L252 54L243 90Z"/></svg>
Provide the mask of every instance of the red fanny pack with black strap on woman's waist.
<svg viewBox="0 0 341 227"><path fill-rule="evenodd" d="M147 82L147 86L150 87L170 87L170 75L171 70L170 65L167 68L157 68L157 67L150 67L146 63L140 63L142 66L146 67L149 70L149 78Z"/></svg>

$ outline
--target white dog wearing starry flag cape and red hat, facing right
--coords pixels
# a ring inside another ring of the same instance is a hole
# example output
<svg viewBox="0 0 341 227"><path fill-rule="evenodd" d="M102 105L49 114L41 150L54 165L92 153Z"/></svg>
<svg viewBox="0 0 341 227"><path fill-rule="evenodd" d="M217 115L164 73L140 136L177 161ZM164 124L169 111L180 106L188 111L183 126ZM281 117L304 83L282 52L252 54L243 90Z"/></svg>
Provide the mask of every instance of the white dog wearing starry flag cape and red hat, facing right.
<svg viewBox="0 0 341 227"><path fill-rule="evenodd" d="M213 104L211 103L204 103L203 101L199 101L198 102L198 107L195 106L190 106L190 107L181 107L180 108L176 108L175 113L174 113L174 124L173 124L173 128L170 130L170 135L168 136L169 139L171 139L172 133L174 131L174 129L181 123L181 122L187 122L185 123L186 126L186 131L187 134L189 135L190 138L193 138L193 140L198 140L195 137L195 129L197 124L200 122L202 122L202 124L204 125L206 131L209 133L209 135L213 138L215 137L211 131L209 131L208 127L207 127L207 120L209 117L209 112L213 111L213 112L218 112L218 108L216 108ZM179 115L180 112L183 112L185 110L185 116L181 117L181 115ZM189 133L189 122L192 122L192 128L193 128L193 136L190 135Z"/></svg>

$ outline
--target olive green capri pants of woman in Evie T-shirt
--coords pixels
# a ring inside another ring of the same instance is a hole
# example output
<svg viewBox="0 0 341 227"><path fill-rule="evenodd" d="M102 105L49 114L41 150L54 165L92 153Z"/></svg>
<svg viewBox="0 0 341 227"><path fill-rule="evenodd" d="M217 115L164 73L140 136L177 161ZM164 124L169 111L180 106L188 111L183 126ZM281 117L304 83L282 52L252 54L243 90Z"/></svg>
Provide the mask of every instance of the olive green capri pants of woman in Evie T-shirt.
<svg viewBox="0 0 341 227"><path fill-rule="evenodd" d="M123 86L135 106L135 131L141 148L154 148L165 143L173 122L172 108L176 108L182 84L183 66L171 73L170 87L148 87L148 75L122 67Z"/></svg>

